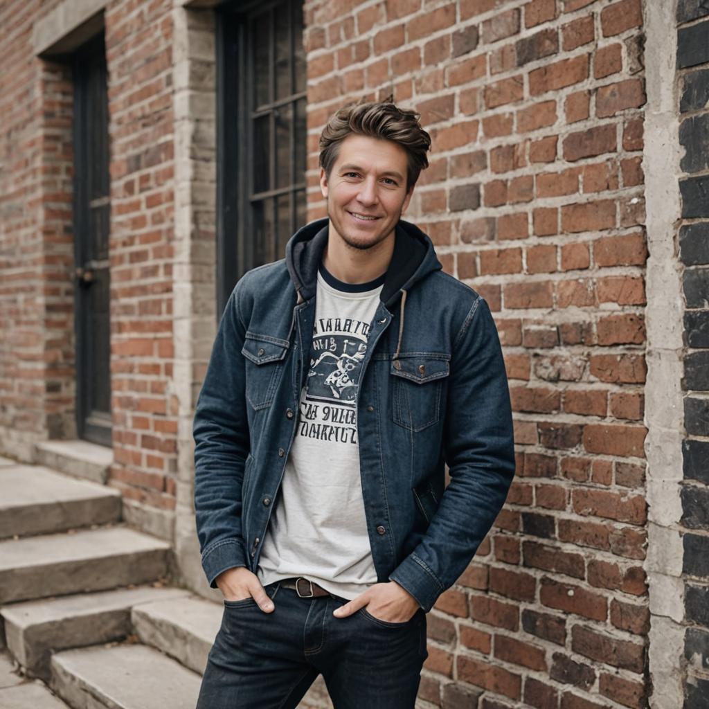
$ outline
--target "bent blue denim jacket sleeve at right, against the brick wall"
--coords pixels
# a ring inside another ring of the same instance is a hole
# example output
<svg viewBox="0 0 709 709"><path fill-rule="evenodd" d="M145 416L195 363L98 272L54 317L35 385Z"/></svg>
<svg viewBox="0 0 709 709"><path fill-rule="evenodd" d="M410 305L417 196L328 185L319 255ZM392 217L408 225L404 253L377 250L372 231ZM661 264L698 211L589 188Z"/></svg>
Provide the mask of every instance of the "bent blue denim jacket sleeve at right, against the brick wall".
<svg viewBox="0 0 709 709"><path fill-rule="evenodd" d="M443 430L450 483L428 530L389 579L430 610L465 571L506 500L515 471L505 363L479 297L457 334Z"/></svg>

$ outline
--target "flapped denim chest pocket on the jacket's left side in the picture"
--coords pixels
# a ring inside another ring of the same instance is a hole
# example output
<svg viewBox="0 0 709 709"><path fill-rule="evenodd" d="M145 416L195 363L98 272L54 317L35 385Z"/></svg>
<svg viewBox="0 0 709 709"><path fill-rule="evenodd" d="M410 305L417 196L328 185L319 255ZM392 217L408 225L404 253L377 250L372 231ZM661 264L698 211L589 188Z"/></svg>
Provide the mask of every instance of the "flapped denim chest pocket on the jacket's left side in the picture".
<svg viewBox="0 0 709 709"><path fill-rule="evenodd" d="M271 406L289 345L279 337L246 333L241 354L246 358L245 391L252 408Z"/></svg>

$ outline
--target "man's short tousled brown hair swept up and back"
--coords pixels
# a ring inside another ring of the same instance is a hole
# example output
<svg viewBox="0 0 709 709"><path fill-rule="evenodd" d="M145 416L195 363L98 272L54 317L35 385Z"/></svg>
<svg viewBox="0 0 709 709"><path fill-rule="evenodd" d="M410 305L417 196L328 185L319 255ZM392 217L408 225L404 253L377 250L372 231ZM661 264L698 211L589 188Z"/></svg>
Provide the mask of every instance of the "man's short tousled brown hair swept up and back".
<svg viewBox="0 0 709 709"><path fill-rule="evenodd" d="M406 150L406 189L410 190L421 170L428 167L426 151L431 147L431 137L421 128L418 118L418 113L398 108L391 100L340 108L320 135L320 167L329 177L342 140L353 133L393 140Z"/></svg>

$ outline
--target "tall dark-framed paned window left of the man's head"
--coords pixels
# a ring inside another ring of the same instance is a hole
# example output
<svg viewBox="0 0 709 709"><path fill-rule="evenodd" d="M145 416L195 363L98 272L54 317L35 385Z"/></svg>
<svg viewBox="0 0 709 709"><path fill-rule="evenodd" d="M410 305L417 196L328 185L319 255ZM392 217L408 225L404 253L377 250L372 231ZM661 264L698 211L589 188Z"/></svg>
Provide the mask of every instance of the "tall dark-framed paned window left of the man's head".
<svg viewBox="0 0 709 709"><path fill-rule="evenodd" d="M306 222L306 59L297 0L218 21L218 313L247 270Z"/></svg>

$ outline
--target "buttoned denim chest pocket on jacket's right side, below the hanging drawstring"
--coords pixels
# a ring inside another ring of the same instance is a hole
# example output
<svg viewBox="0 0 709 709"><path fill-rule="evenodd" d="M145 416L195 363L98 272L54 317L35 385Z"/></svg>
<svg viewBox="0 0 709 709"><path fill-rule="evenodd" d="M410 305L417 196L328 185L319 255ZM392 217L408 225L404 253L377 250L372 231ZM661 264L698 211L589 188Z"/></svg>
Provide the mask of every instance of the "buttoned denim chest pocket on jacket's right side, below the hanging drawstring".
<svg viewBox="0 0 709 709"><path fill-rule="evenodd" d="M438 423L450 354L414 352L391 362L393 422L411 431Z"/></svg>

